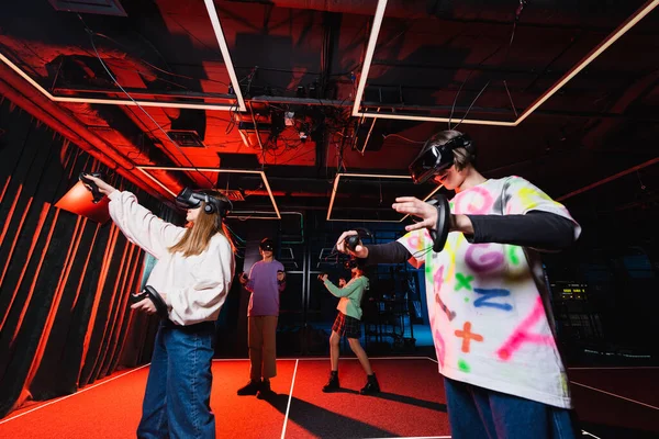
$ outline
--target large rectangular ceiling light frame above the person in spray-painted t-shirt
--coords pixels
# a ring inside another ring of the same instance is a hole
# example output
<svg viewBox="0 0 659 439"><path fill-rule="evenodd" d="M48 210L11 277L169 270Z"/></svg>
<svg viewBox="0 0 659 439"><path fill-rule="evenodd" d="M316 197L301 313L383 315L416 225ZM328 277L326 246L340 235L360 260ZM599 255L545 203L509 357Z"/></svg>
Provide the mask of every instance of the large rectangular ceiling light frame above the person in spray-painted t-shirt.
<svg viewBox="0 0 659 439"><path fill-rule="evenodd" d="M534 111L538 109L545 101L551 98L561 87L563 87L570 79L577 74L583 70L589 64L600 56L604 50L615 43L621 36L629 31L636 23L638 23L644 16L650 13L657 5L659 0L647 1L640 9L638 9L632 16L629 16L623 24L621 24L615 31L613 31L602 43L593 48L587 56L584 56L574 67L570 69L566 75L562 76L554 86L545 91L536 101L528 106L514 122L505 121L489 121L480 119L465 119L461 121L463 124L473 125L496 125L496 126L517 126L526 117L528 117ZM434 116L418 116L413 114L382 114L367 111L359 111L361 106L361 100L364 98L364 90L368 80L368 72L370 70L373 54L376 52L376 45L378 43L378 35L380 27L382 26L382 20L384 19L384 10L387 9L387 0L378 0L378 7L376 8L376 15L373 16L373 24L371 33L368 40L366 48L366 55L364 56L364 67L359 75L359 82L357 85L357 94L355 95L355 104L353 105L353 116L358 117L373 117L373 119L394 119L401 121L420 121L420 122L449 122L448 117L434 117ZM455 119L454 119L455 121Z"/></svg>

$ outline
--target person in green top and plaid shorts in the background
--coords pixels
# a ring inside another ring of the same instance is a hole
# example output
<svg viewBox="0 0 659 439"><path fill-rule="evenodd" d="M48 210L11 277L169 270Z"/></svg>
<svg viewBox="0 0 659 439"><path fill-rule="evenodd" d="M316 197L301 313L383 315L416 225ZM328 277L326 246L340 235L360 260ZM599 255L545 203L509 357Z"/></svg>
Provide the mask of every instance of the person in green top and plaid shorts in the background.
<svg viewBox="0 0 659 439"><path fill-rule="evenodd" d="M359 337L361 337L361 297L364 291L368 290L368 278L364 275L364 271L357 267L355 261L350 261L350 271L353 272L353 279L348 283L336 286L330 280L327 274L319 277L323 281L327 290L337 297L340 297L336 309L338 313L332 326L332 336L330 337L330 361L332 363L332 372L330 372L330 381L323 386L323 392L333 392L338 390L338 344L340 337L345 334L350 344L350 349L359 359L361 367L367 375L367 382L364 389L359 393L362 395L369 395L380 392L380 385L378 379L370 367L368 356L364 351ZM343 281L343 279L342 279Z"/></svg>

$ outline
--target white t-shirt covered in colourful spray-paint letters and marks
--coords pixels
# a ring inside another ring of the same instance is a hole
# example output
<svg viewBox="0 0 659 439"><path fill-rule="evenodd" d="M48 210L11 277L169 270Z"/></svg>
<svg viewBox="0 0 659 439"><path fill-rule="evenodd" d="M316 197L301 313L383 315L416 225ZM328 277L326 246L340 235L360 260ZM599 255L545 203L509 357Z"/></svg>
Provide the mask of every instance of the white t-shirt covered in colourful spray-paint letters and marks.
<svg viewBox="0 0 659 439"><path fill-rule="evenodd" d="M467 215L537 210L572 219L566 207L520 177L488 180L462 191L450 201L450 209ZM580 232L576 224L576 237ZM469 244L465 235L451 233L444 250L435 254L425 228L399 243L425 263L428 315L443 375L571 408L554 338L549 291L536 251Z"/></svg>

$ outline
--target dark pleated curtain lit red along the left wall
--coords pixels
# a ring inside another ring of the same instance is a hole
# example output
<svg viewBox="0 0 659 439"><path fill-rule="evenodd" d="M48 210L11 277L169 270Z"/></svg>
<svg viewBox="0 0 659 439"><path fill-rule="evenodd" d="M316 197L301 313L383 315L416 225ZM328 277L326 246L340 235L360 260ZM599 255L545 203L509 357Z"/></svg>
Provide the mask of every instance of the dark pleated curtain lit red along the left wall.
<svg viewBox="0 0 659 439"><path fill-rule="evenodd" d="M157 325L127 301L144 252L111 222L54 206L81 171L102 167L40 125L0 103L0 417L148 362Z"/></svg>

